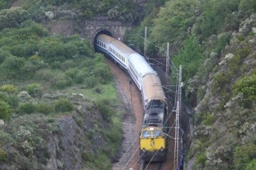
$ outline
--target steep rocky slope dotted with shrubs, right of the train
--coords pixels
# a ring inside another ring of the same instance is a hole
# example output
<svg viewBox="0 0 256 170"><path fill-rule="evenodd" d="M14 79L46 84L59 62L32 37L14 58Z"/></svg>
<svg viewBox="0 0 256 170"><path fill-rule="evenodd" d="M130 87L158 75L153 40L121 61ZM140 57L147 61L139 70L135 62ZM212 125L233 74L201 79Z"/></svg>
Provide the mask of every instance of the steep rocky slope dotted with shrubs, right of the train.
<svg viewBox="0 0 256 170"><path fill-rule="evenodd" d="M244 95L234 94L233 89L237 81L255 74L255 26L256 14L252 14L232 33L229 45L219 57L211 54L215 55L215 61L211 55L205 61L208 66L215 63L216 69L205 68L199 83L193 84L198 77L191 81L191 89L203 95L200 94L195 107L195 127L186 169L239 169L239 155L234 155L239 147L250 146L254 141L255 99L250 107L242 105Z"/></svg>

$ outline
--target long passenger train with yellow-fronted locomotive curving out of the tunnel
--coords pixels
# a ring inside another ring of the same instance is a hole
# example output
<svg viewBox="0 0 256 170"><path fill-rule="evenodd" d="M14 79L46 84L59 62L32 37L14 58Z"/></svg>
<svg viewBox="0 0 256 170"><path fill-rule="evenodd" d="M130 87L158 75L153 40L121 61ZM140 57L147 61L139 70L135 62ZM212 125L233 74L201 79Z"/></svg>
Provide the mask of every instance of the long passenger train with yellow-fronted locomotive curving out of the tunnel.
<svg viewBox="0 0 256 170"><path fill-rule="evenodd" d="M96 51L111 57L138 87L142 95L144 118L140 132L140 158L164 161L167 153L168 102L160 78L150 64L129 46L107 34L95 38Z"/></svg>

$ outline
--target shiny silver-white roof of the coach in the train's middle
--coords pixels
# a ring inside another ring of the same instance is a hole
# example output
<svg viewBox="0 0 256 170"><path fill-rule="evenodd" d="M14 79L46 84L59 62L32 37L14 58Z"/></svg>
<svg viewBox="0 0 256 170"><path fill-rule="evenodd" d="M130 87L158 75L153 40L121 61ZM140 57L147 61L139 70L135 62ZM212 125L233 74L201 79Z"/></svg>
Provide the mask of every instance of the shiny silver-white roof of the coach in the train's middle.
<svg viewBox="0 0 256 170"><path fill-rule="evenodd" d="M132 65L137 74L142 78L147 74L157 75L156 71L150 67L146 60L140 54L130 54L128 57L129 64Z"/></svg>

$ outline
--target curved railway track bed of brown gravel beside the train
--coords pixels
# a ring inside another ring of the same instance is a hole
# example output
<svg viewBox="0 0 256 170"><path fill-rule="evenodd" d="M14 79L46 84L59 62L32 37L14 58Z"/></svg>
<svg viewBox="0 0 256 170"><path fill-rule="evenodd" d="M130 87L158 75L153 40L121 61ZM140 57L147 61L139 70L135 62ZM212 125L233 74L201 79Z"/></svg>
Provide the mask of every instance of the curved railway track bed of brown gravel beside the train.
<svg viewBox="0 0 256 170"><path fill-rule="evenodd" d="M111 73L114 75L117 91L119 91L119 95L122 96L122 100L125 100L124 103L130 105L130 115L134 117L135 121L127 122L127 119L124 119L124 129L123 129L123 142L121 145L121 158L119 159L119 163L114 163L114 170L119 169L140 169L141 160L139 155L139 133L142 126L143 121L143 108L142 108L142 99L140 95L139 89L135 86L134 83L129 85L129 76L118 67L112 60L106 57L106 62L111 69ZM130 89L132 92L132 100L130 97ZM171 116L169 119L169 125L173 124L175 116ZM174 136L174 129L172 129L169 135ZM131 147L130 147L131 146ZM169 170L173 169L173 158L174 158L174 140L168 139L168 153L166 161L163 163L150 163L147 166L145 164L144 168L148 170ZM161 164L161 165L160 165Z"/></svg>

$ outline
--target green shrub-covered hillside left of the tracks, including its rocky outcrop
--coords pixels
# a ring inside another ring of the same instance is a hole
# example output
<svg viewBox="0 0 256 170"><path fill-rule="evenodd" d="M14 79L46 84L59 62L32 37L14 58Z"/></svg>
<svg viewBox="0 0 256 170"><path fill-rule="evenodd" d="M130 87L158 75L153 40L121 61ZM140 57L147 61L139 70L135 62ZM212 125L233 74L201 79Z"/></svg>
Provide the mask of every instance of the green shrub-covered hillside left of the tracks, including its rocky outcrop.
<svg viewBox="0 0 256 170"><path fill-rule="evenodd" d="M125 110L104 56L79 35L49 33L36 1L9 3L0 1L0 169L110 169Z"/></svg>

